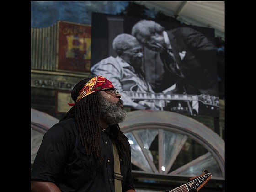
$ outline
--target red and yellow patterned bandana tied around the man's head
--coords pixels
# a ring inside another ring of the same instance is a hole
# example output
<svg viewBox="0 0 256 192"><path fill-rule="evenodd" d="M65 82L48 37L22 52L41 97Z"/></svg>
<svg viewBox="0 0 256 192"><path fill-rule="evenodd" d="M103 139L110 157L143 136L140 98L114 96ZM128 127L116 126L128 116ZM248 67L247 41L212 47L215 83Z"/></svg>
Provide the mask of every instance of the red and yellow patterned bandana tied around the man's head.
<svg viewBox="0 0 256 192"><path fill-rule="evenodd" d="M84 98L85 96L88 96L89 94L91 94L93 92L101 91L101 90L109 89L109 88L114 88L114 86L105 77L102 77L102 76L93 77L91 80L89 80L85 84L83 89L81 89L81 91L79 91L75 102L77 103L80 99ZM69 106L75 105L75 103L68 103L68 104L69 104Z"/></svg>

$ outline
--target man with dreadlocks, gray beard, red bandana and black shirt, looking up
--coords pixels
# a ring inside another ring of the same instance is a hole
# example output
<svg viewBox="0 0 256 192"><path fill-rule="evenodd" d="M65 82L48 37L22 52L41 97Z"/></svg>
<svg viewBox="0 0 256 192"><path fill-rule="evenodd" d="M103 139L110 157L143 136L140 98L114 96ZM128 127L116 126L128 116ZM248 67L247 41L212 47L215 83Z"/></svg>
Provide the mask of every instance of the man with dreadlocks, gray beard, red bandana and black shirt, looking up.
<svg viewBox="0 0 256 192"><path fill-rule="evenodd" d="M71 97L73 107L43 136L31 169L31 191L115 192L113 142L122 192L135 192L130 144L118 125L127 113L117 89L103 76L91 76L75 85Z"/></svg>

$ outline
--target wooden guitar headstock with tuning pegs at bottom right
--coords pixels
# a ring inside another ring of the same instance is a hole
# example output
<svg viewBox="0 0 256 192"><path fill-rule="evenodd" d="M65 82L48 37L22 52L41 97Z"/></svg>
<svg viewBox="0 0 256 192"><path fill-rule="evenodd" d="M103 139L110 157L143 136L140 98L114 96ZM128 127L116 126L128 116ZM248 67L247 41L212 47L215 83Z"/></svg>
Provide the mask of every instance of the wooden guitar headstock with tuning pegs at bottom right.
<svg viewBox="0 0 256 192"><path fill-rule="evenodd" d="M186 183L187 188L189 191L197 191L204 186L207 181L212 177L212 174L208 170L204 170L203 173L199 176L192 177L188 179Z"/></svg>

